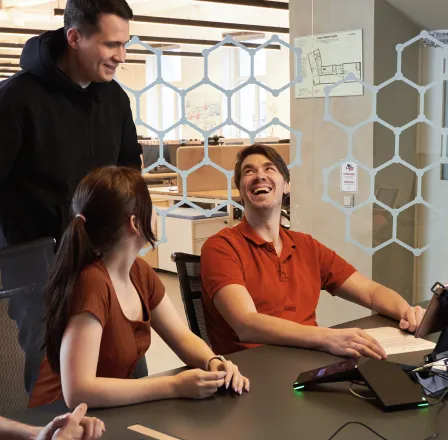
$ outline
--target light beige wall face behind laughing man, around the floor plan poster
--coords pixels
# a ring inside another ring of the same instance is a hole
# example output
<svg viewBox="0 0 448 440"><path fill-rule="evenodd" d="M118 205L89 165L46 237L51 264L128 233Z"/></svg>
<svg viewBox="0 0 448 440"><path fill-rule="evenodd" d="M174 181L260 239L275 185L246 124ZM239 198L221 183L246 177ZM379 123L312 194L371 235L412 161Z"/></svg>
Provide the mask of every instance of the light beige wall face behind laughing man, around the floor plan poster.
<svg viewBox="0 0 448 440"><path fill-rule="evenodd" d="M371 0L301 0L290 3L291 39L325 33L363 29L364 79L374 81L374 2ZM359 115L368 114L371 97L334 97L331 113L355 125ZM365 276L372 276L372 258L353 243L345 241L345 215L322 201L324 177L322 169L338 163L347 154L345 132L324 121L323 98L295 99L291 93L291 123L301 130L303 164L291 170L291 225L294 230L312 234L324 245L334 249ZM371 166L373 157L373 127L366 126L358 135L363 146L358 159ZM339 173L330 176L329 189L334 200L342 202ZM360 173L359 191L355 200L367 198L370 192L368 176ZM372 236L371 208L358 212L352 231ZM317 308L319 325L328 326L368 316L370 311L353 303L333 298L322 292Z"/></svg>

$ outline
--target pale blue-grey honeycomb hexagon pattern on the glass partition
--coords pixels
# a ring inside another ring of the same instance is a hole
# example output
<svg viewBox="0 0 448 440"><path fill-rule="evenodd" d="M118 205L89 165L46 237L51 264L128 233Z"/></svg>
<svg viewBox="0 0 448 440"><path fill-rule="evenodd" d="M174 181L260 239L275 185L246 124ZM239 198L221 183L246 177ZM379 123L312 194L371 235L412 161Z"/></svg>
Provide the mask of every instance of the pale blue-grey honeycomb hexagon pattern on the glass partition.
<svg viewBox="0 0 448 440"><path fill-rule="evenodd" d="M413 206L416 206L418 204L424 205L426 207L427 211L430 213L433 213L435 215L437 215L439 213L438 208L433 207L430 203L428 203L422 197L422 182L423 182L423 178L424 178L425 174L430 172L431 170L433 170L435 167L440 167L441 164L448 163L447 151L446 151L446 141L447 141L448 129L445 127L437 127L430 119L428 119L426 117L425 110L424 110L425 94L428 90L430 90L432 87L434 87L436 85L436 83L431 83L431 84L427 84L424 86L417 85L414 82L412 82L411 80L409 80L408 78L406 78L403 75L402 69L401 69L402 56L403 56L404 49L406 49L406 47L408 47L408 46L412 45L413 43L418 42L419 40L422 40L422 39L424 39L426 41L430 41L435 46L445 49L445 46L440 41L433 38L428 32L423 31L419 35L417 35L415 38L409 40L408 42L405 42L403 44L399 44L396 46L397 71L396 71L395 75L392 78L390 78L389 80L383 82L382 84L375 86L375 85L368 84L365 81L359 80L358 78L356 78L354 76L354 74L349 74L341 81L339 81L333 85L327 86L325 88L325 114L322 115L322 117L325 121L328 121L328 122L338 126L340 129L342 129L346 132L346 134L348 136L348 144L347 144L347 153L346 153L345 158L343 158L340 162L334 163L333 165L323 169L325 186L324 186L324 193L322 195L322 198L325 202L332 204L335 208L337 208L338 210L340 210L344 213L344 215L346 217L346 237L345 237L346 240L348 242L354 243L355 245L359 246L360 248L364 249L367 253L370 253L370 254L373 254L376 251L383 249L384 247L395 242L395 243L399 244L400 246L408 249L415 256L420 255L422 252L426 251L429 248L430 243L426 243L421 248L413 248L405 241L402 241L400 239L399 234L397 233L398 217L400 216L400 214L404 213L407 209L409 209ZM210 56L214 53L214 51L216 51L220 47L224 46L225 44L229 44L229 43L241 50L246 51L248 53L248 55L250 56L250 64L251 64L250 77L247 79L247 81L239 84L237 87L235 87L233 89L223 88L221 85L218 85L216 82L212 81L212 79L209 76ZM272 44L272 43L278 43L278 44L289 49L290 53L293 54L292 59L294 60L294 63L295 63L294 71L297 72L296 76L289 83L284 84L282 87L275 88L275 89L270 88L268 85L260 82L256 78L255 72L254 72L254 64L255 64L256 54L260 50L263 50L267 45ZM293 135L292 138L294 138L296 140L295 145L291 145L291 149L292 149L291 157L293 157L294 160L289 164L289 168L292 168L295 166L300 166L300 164L301 164L301 154L300 154L301 148L300 147L301 147L302 133L299 130L295 130L293 127L289 127L288 125L286 125L282 121L280 121L278 118L273 118L270 122L265 124L263 127L259 127L257 130L250 130L247 127L241 126L238 123L238 121L236 121L234 119L234 117L232 115L232 108L233 108L232 107L232 99L244 87L254 84L260 88L263 88L264 90L266 90L267 93L272 94L272 96L277 97L280 93L287 91L288 89L291 89L295 84L300 83L302 80L301 75L300 75L301 69L300 69L300 65L299 65L300 58L301 58L301 49L300 48L296 48L293 45L281 40L277 35L274 35L268 41L266 41L264 44L261 44L259 47L255 48L255 49L251 49L251 48L247 48L246 46L242 45L241 43L234 40L231 36L228 35L219 44L217 44L211 48L204 49L202 51L202 55L204 57L203 78L199 82L191 85L187 89L179 89L179 88L176 88L175 86L173 86L172 84L170 84L169 82L165 81L162 77L161 66L162 66L163 52L160 49L152 48L148 44L140 41L137 37L134 37L128 43L128 45L142 46L145 50L152 52L155 55L156 60L157 60L157 77L156 77L155 81L148 84L146 87L142 88L141 90L133 90L133 89L129 88L128 86L126 86L126 84L120 83L121 86L129 94L134 95L134 97L135 97L136 114L134 116L135 116L136 125L141 125L143 127L148 128L153 133L155 133L157 135L157 137L159 138L159 144L160 144L159 159L157 160L157 162L155 162L155 163L151 164L149 167L145 168L145 170L143 172L148 172L151 169L153 169L154 167L156 167L157 165L165 165L168 168L170 168L171 170L173 170L173 172L178 173L179 176L182 178L182 183L183 183L182 184L182 192L183 192L182 200L180 200L178 203L174 204L173 206L170 206L168 209L156 208L158 214L162 217L162 231L161 231L161 236L159 238L158 243L163 243L168 240L169 237L167 237L166 233L165 233L166 216L167 216L167 214L169 214L171 211L173 211L180 205L183 205L183 204L189 205L189 206L193 207L194 209L201 211L207 217L210 217L214 212L216 212L217 210L219 210L229 204L231 204L237 208L240 208L242 210L244 209L239 203L232 200L232 191L231 190L232 190L233 171L225 170L222 167L220 167L219 165L215 164L213 161L210 160L209 154L208 154L208 141L207 141L208 137L211 134L213 134L214 132L216 132L217 130L223 128L224 126L233 126L233 127L238 128L239 130L243 131L244 133L247 133L251 139L251 142L254 142L254 139L257 137L257 135L259 133L263 132L264 130L266 130L267 128L269 128L271 126L278 125L278 126L283 127L285 130L289 131L290 134ZM448 79L448 76L445 74L443 77L443 81L446 81L447 79ZM356 82L362 84L362 86L364 87L365 93L370 93L372 96L372 108L371 108L370 114L360 116L360 120L355 126L348 126L348 125L344 124L344 121L336 120L332 116L331 111L330 111L330 109L331 109L331 106L330 106L331 92L347 81L351 81L351 82L356 81ZM420 113L417 115L417 117L415 119L413 119L411 121L399 121L398 119L396 121L387 121L387 120L381 119L377 114L376 102L377 102L378 94L379 93L387 93L387 87L390 86L392 83L398 83L398 82L401 83L401 86L403 86L403 87L414 89L415 93L419 95ZM158 130L156 127L150 126L141 117L140 98L142 97L142 95L145 92L149 91L150 89L154 88L157 85L163 85L165 87L170 88L171 90L173 90L175 93L178 94L178 96L180 97L180 100L181 100L181 117L171 127L166 127L164 130L163 129ZM218 125L216 127L212 127L210 130L202 130L200 127L196 126L193 122L188 120L186 117L186 109L185 109L186 99L185 98L190 92L193 92L200 87L213 88L213 89L219 91L225 97L225 100L227 100L227 109L228 109L227 110L227 119L224 120L220 125ZM384 127L385 130L389 131L390 135L394 136L394 139L395 139L395 151L391 152L389 160L387 160L384 163L381 163L378 166L374 166L374 167L369 167L366 164L359 161L358 159L356 159L356 155L355 155L355 151L354 151L355 150L354 147L356 144L356 142L355 142L356 131L370 123L380 124L382 127ZM409 129L410 127L412 127L416 124L419 124L419 123L428 124L429 126L438 130L440 132L440 135L443 140L442 141L443 149L442 149L442 153L439 157L439 160L436 163L428 164L425 168L422 168L422 169L416 168L414 165L406 162L400 156L400 136L407 129ZM392 124L395 124L398 126L394 126ZM190 126L194 130L196 130L197 132L202 134L204 137L204 158L200 163L196 164L194 167L190 168L189 170L178 169L177 167L168 163L164 159L164 156L163 156L164 137L166 136L167 133L169 133L170 131L172 131L173 129L175 129L176 127L178 127L180 125ZM364 172L364 173L367 173L370 175L370 196L367 199L362 200L361 203L359 203L354 208L345 208L330 197L329 176L331 173L333 173L339 169L340 164L343 161L351 161L351 162L357 163L358 169L360 170L360 172ZM203 167L206 165L212 166L215 169L219 170L221 173L223 173L226 176L227 181L228 181L227 200L225 200L223 203L221 203L219 206L215 207L214 209L204 209L204 208L198 206L197 204L193 203L192 201L188 200L188 198L187 198L187 177L191 173L193 173L194 171L199 169L200 167ZM409 203L399 206L398 208L389 206L387 203L383 202L380 198L377 198L377 195L375 195L375 177L379 173L381 173L382 170L384 170L388 167L393 167L393 166L405 167L409 170L410 173L414 173L417 178L417 189L416 189L415 198L413 200L411 200ZM365 208L367 205L372 205L377 208L379 207L379 208L383 209L386 212L386 215L392 219L391 237L388 239L387 239L387 237L384 237L383 239L375 240L373 242L372 247L366 246L366 244L358 242L354 237L352 237L352 234L351 234L352 216L354 214L356 214L357 211L360 211L363 208ZM146 250L142 251L142 252L147 252L148 249L149 248L146 248Z"/></svg>

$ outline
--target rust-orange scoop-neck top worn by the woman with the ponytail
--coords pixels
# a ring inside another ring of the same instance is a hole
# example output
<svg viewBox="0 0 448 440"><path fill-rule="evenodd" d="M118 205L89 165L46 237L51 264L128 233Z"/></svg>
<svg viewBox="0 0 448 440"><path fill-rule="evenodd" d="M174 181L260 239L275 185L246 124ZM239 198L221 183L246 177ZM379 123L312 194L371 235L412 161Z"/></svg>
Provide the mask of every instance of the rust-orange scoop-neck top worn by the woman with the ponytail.
<svg viewBox="0 0 448 440"><path fill-rule="evenodd" d="M86 267L79 277L71 316L82 312L94 315L103 327L97 376L130 378L137 361L151 344L151 310L162 300L165 288L154 270L137 258L130 272L143 307L143 321L131 321L123 314L106 267L99 260ZM45 358L29 406L63 399L61 377Z"/></svg>

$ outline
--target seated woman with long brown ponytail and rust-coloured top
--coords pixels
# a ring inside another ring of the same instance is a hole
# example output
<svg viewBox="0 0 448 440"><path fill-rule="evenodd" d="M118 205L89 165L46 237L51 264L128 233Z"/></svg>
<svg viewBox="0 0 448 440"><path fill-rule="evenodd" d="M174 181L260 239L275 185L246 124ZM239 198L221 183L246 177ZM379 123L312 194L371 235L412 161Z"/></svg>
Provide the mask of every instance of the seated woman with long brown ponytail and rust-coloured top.
<svg viewBox="0 0 448 440"><path fill-rule="evenodd" d="M241 394L249 381L216 356L177 315L156 273L138 258L154 244L152 203L140 173L99 168L79 184L47 287L42 362L30 406L64 399L74 408L149 400L204 398L225 385ZM151 328L194 369L132 379L151 343Z"/></svg>

